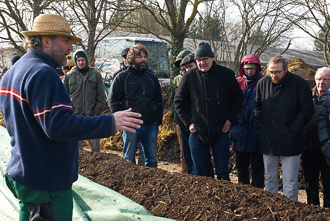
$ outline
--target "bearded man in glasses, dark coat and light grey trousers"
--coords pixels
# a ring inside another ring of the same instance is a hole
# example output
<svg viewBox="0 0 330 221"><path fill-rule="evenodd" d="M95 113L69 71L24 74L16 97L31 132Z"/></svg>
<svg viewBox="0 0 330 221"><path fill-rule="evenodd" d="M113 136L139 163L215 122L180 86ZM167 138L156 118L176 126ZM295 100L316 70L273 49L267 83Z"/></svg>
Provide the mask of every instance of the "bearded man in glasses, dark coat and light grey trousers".
<svg viewBox="0 0 330 221"><path fill-rule="evenodd" d="M288 71L289 60L275 56L268 73L257 85L254 126L264 158L265 190L278 193L279 158L282 162L283 194L298 200L298 172L303 151L302 133L313 117L308 83Z"/></svg>

